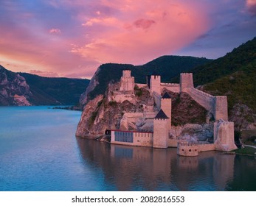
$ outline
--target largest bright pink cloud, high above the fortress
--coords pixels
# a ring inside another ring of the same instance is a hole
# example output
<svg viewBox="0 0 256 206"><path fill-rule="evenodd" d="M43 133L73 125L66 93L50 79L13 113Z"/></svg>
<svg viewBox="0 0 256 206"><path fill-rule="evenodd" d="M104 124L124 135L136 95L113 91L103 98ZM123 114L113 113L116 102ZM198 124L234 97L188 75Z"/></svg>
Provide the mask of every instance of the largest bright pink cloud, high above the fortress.
<svg viewBox="0 0 256 206"><path fill-rule="evenodd" d="M72 48L73 53L99 63L146 63L181 49L210 29L207 15L202 10L199 12L200 7L195 3L170 4L161 0L156 7L154 1L103 2L120 13L91 18L86 26L91 27L92 38L84 46Z"/></svg>

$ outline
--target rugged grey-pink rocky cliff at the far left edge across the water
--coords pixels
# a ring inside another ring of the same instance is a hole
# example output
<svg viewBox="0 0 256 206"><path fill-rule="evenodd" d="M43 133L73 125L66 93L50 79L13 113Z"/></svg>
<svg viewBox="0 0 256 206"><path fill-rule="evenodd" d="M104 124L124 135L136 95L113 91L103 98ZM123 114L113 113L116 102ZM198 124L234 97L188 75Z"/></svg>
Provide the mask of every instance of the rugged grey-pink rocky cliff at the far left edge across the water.
<svg viewBox="0 0 256 206"><path fill-rule="evenodd" d="M0 105L31 105L32 93L24 77L0 65Z"/></svg>

